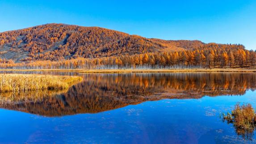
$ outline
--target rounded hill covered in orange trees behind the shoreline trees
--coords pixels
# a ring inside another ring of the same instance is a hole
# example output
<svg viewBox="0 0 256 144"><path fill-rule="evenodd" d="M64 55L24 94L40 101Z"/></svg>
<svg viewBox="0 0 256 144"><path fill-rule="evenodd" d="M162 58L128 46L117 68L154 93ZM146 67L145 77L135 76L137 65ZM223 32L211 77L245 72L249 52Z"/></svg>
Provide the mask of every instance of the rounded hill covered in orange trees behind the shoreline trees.
<svg viewBox="0 0 256 144"><path fill-rule="evenodd" d="M98 27L44 24L0 33L0 59L14 62L69 60L79 57L131 56L194 49L244 49L237 44L198 40L159 40Z"/></svg>

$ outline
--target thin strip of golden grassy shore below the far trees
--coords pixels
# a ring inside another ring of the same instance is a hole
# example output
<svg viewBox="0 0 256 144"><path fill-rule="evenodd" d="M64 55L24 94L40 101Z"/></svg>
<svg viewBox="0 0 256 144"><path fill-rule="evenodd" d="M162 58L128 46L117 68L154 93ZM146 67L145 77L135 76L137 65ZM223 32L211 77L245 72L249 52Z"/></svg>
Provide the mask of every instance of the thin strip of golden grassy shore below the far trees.
<svg viewBox="0 0 256 144"><path fill-rule="evenodd" d="M154 73L154 72L256 72L246 68L212 69L0 69L2 72L80 72L80 73Z"/></svg>

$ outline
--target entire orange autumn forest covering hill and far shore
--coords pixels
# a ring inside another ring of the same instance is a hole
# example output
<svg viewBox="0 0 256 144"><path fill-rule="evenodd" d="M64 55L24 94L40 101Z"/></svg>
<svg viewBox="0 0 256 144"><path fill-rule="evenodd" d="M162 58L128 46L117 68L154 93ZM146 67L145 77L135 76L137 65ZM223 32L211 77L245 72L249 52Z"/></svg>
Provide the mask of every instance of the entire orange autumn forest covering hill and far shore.
<svg viewBox="0 0 256 144"><path fill-rule="evenodd" d="M254 68L242 44L160 40L98 27L45 24L0 33L0 68Z"/></svg>

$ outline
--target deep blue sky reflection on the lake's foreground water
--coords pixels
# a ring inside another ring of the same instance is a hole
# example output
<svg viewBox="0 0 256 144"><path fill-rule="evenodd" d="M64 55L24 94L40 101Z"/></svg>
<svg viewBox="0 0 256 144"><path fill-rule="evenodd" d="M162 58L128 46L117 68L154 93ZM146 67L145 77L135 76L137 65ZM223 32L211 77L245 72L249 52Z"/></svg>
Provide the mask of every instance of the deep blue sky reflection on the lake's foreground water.
<svg viewBox="0 0 256 144"><path fill-rule="evenodd" d="M249 90L243 96L147 101L52 118L0 109L0 142L240 143L243 139L219 113L231 111L238 101L256 107L255 96Z"/></svg>

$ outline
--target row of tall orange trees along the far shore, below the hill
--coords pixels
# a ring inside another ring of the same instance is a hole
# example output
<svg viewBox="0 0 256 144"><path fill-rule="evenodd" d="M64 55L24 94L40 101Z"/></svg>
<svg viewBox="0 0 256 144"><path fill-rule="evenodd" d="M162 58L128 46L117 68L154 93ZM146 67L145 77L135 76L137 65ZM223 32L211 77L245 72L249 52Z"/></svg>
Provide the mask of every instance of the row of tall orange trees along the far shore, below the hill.
<svg viewBox="0 0 256 144"><path fill-rule="evenodd" d="M14 63L0 60L0 68L254 68L256 52L246 49L194 49L178 52L149 52L131 56L82 58L62 61L29 61Z"/></svg>

